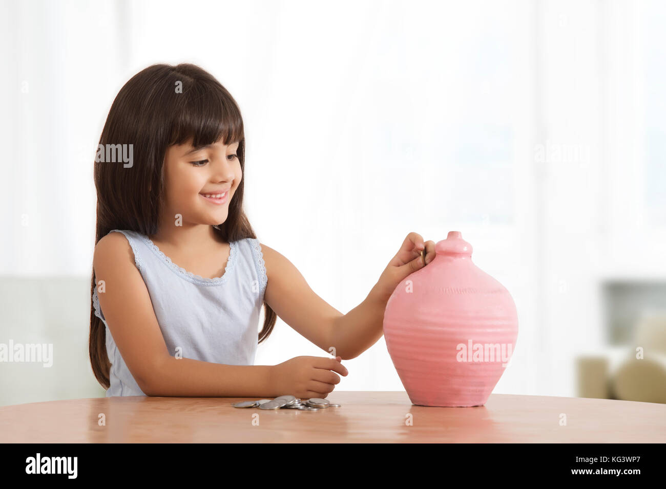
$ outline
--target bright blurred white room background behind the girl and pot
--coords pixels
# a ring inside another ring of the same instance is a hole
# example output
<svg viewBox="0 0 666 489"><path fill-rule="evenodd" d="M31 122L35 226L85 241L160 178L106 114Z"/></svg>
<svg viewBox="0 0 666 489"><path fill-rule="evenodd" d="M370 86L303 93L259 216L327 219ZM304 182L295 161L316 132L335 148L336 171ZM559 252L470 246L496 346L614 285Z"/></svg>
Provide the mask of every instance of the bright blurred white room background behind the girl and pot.
<svg viewBox="0 0 666 489"><path fill-rule="evenodd" d="M105 395L95 149L121 86L181 62L240 105L259 240L333 307L457 230L517 306L494 393L666 403L665 3L0 6L0 345L53 345L0 363L0 405ZM256 365L299 355L329 356L278 319ZM403 390L383 338L344 365L338 390Z"/></svg>

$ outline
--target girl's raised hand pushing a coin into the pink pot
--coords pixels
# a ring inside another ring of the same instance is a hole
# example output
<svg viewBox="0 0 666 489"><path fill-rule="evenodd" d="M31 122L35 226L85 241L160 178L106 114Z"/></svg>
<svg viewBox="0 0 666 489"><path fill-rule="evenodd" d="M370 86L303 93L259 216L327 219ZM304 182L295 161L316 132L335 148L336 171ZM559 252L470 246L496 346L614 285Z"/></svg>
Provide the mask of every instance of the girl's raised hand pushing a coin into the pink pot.
<svg viewBox="0 0 666 489"><path fill-rule="evenodd" d="M426 262L422 250L426 250ZM435 257L435 242L424 242L418 233L410 233L402 242L400 251L388 263L372 292L382 301L388 301L393 291L408 275L422 269Z"/></svg>

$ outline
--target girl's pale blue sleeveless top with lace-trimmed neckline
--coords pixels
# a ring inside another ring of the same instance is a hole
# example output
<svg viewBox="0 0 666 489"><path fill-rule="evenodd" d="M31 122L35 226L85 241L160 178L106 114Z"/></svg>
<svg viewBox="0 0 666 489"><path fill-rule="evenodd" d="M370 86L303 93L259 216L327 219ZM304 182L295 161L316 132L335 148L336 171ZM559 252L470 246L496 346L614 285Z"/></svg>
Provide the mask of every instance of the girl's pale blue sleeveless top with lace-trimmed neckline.
<svg viewBox="0 0 666 489"><path fill-rule="evenodd" d="M224 365L254 365L267 282L259 240L230 242L224 275L210 279L172 263L148 236L127 230L111 232L123 233L134 251L169 355L178 353L183 358ZM111 362L107 397L145 396L113 341L99 305L97 285L93 307L107 333Z"/></svg>

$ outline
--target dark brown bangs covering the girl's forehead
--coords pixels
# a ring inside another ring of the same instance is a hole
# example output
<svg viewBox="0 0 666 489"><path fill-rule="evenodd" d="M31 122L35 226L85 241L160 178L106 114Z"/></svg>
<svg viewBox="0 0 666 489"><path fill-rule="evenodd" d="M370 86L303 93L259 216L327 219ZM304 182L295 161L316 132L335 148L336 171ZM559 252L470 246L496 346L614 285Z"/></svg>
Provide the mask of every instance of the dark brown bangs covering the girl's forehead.
<svg viewBox="0 0 666 489"><path fill-rule="evenodd" d="M222 140L225 146L243 137L243 122L236 102L221 85L201 79L183 81L172 119L169 146L192 140L198 148Z"/></svg>

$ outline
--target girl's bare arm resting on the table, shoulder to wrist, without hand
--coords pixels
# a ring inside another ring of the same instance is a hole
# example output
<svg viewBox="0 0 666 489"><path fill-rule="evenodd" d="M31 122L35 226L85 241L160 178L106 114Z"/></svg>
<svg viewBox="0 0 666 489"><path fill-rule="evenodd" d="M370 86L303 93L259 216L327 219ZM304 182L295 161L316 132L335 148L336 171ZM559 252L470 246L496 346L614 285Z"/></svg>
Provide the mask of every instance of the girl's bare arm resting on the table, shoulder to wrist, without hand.
<svg viewBox="0 0 666 489"><path fill-rule="evenodd" d="M109 331L137 384L149 396L275 397L270 365L221 365L168 353L151 297L127 238L113 232L95 246L97 292Z"/></svg>

